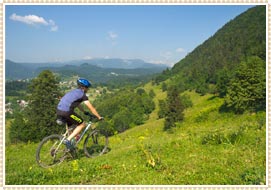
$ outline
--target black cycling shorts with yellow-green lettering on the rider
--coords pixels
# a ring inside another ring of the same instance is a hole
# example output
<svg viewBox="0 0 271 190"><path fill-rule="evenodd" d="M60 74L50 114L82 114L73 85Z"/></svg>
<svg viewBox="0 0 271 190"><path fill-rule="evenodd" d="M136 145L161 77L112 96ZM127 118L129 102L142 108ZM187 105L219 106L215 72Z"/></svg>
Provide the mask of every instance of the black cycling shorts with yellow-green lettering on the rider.
<svg viewBox="0 0 271 190"><path fill-rule="evenodd" d="M61 110L57 110L56 114L57 114L57 118L65 120L65 122L67 122L68 126L72 126L72 125L77 126L77 125L80 125L81 123L84 122L82 117L80 117L78 114L76 114L73 111L64 112Z"/></svg>

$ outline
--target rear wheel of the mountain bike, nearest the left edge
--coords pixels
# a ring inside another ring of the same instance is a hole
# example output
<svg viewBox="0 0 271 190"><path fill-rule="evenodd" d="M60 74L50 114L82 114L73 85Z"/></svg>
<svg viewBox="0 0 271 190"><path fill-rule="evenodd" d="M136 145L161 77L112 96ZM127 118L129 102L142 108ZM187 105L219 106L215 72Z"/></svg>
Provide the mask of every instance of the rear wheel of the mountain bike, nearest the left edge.
<svg viewBox="0 0 271 190"><path fill-rule="evenodd" d="M62 139L63 136L53 134L40 142L36 150L36 161L39 166L49 168L65 160L68 150L64 144L60 144Z"/></svg>

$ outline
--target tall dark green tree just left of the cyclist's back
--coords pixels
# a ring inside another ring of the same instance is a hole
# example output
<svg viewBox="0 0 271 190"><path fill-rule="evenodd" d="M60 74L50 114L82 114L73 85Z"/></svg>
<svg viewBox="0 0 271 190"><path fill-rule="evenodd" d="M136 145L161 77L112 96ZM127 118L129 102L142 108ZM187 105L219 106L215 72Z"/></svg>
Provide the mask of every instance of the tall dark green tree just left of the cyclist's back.
<svg viewBox="0 0 271 190"><path fill-rule="evenodd" d="M60 91L54 74L42 71L29 86L29 105L26 108L27 138L39 141L63 128L56 124L56 107Z"/></svg>

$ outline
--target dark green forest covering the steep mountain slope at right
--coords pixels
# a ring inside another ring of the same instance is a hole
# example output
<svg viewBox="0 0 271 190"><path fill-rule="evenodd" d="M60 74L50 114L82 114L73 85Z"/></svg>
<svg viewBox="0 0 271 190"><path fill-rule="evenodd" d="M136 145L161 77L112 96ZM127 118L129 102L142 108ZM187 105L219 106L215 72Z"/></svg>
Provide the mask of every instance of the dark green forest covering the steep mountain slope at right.
<svg viewBox="0 0 271 190"><path fill-rule="evenodd" d="M169 83L179 86L180 90L196 89L202 94L217 92L223 95L223 89L235 75L238 65L253 56L265 62L265 6L251 8L226 23L171 70L163 71L155 82L171 79Z"/></svg>

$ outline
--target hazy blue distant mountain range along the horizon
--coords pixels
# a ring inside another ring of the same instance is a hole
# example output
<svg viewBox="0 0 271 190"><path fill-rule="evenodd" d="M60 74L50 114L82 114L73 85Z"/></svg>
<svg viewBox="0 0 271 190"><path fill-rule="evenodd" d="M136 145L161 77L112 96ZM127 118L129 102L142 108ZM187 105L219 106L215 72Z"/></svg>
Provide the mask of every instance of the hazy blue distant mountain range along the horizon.
<svg viewBox="0 0 271 190"><path fill-rule="evenodd" d="M17 80L36 77L42 70L51 70L61 77L78 75L96 82L116 78L134 78L160 73L167 65L152 64L140 59L90 59L63 63L16 63L5 61L5 78Z"/></svg>

